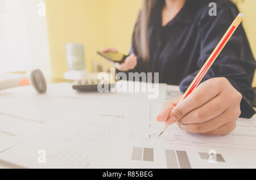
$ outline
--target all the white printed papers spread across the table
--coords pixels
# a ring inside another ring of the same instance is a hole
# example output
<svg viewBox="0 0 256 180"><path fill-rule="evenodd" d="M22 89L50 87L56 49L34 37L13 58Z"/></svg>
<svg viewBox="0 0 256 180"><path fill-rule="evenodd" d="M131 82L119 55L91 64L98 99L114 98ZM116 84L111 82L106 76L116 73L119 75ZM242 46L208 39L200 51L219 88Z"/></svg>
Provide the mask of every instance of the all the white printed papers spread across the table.
<svg viewBox="0 0 256 180"><path fill-rule="evenodd" d="M189 134L172 125L159 138L164 124L155 117L166 100L181 95L178 87L163 85L164 96L156 100L96 97L68 87L51 85L47 95L1 92L0 159L24 168L256 167L255 117L239 119L226 136Z"/></svg>

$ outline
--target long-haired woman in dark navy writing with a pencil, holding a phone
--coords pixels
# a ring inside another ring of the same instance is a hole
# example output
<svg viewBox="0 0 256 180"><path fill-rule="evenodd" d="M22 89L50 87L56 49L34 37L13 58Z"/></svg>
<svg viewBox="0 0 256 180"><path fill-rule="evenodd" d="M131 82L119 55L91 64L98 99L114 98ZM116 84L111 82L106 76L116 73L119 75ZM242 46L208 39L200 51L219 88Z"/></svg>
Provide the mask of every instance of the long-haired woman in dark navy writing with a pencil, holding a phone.
<svg viewBox="0 0 256 180"><path fill-rule="evenodd" d="M210 2L216 3L217 16L209 15ZM115 67L159 72L160 83L180 85L185 92L238 13L228 0L144 0L130 55ZM250 105L254 71L255 59L240 25L199 87L179 104L180 97L164 104L157 120L177 123L187 132L229 134L238 117L255 113Z"/></svg>

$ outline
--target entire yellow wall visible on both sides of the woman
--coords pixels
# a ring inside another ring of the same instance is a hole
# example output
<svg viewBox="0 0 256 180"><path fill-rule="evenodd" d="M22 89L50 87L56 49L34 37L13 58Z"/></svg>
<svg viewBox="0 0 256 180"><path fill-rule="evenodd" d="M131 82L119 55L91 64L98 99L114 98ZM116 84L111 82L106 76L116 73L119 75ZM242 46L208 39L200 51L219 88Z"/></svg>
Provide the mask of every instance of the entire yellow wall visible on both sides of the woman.
<svg viewBox="0 0 256 180"><path fill-rule="evenodd" d="M45 0L53 77L63 77L67 71L65 44L81 42L85 45L87 70L92 60L99 59L94 50L102 47L129 52L131 35L142 0ZM243 26L256 55L255 0L238 3L245 14ZM256 79L254 82L256 86Z"/></svg>

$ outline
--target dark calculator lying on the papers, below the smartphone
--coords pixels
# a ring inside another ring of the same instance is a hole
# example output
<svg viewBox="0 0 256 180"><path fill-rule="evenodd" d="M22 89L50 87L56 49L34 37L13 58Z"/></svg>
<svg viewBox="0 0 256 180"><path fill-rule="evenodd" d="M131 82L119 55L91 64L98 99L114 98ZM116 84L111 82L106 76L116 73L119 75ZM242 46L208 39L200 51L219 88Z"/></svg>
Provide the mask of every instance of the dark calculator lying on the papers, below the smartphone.
<svg viewBox="0 0 256 180"><path fill-rule="evenodd" d="M90 91L98 91L98 84L101 84L102 88L104 88L105 85L107 85L109 88L109 91L111 88L115 87L114 82L110 83L106 80L102 81L101 79L94 79L94 78L76 80L73 83L72 87L77 91L90 92Z"/></svg>

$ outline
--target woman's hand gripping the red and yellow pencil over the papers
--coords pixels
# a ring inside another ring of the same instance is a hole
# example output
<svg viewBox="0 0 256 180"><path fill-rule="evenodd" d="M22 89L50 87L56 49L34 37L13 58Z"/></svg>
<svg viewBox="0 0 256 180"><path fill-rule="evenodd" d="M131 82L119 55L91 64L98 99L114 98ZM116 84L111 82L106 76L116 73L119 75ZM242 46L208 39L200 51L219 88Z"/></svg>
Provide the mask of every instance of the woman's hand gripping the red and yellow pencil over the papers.
<svg viewBox="0 0 256 180"><path fill-rule="evenodd" d="M207 80L177 104L180 98L164 104L156 120L209 135L226 135L236 128L242 96L226 78Z"/></svg>

